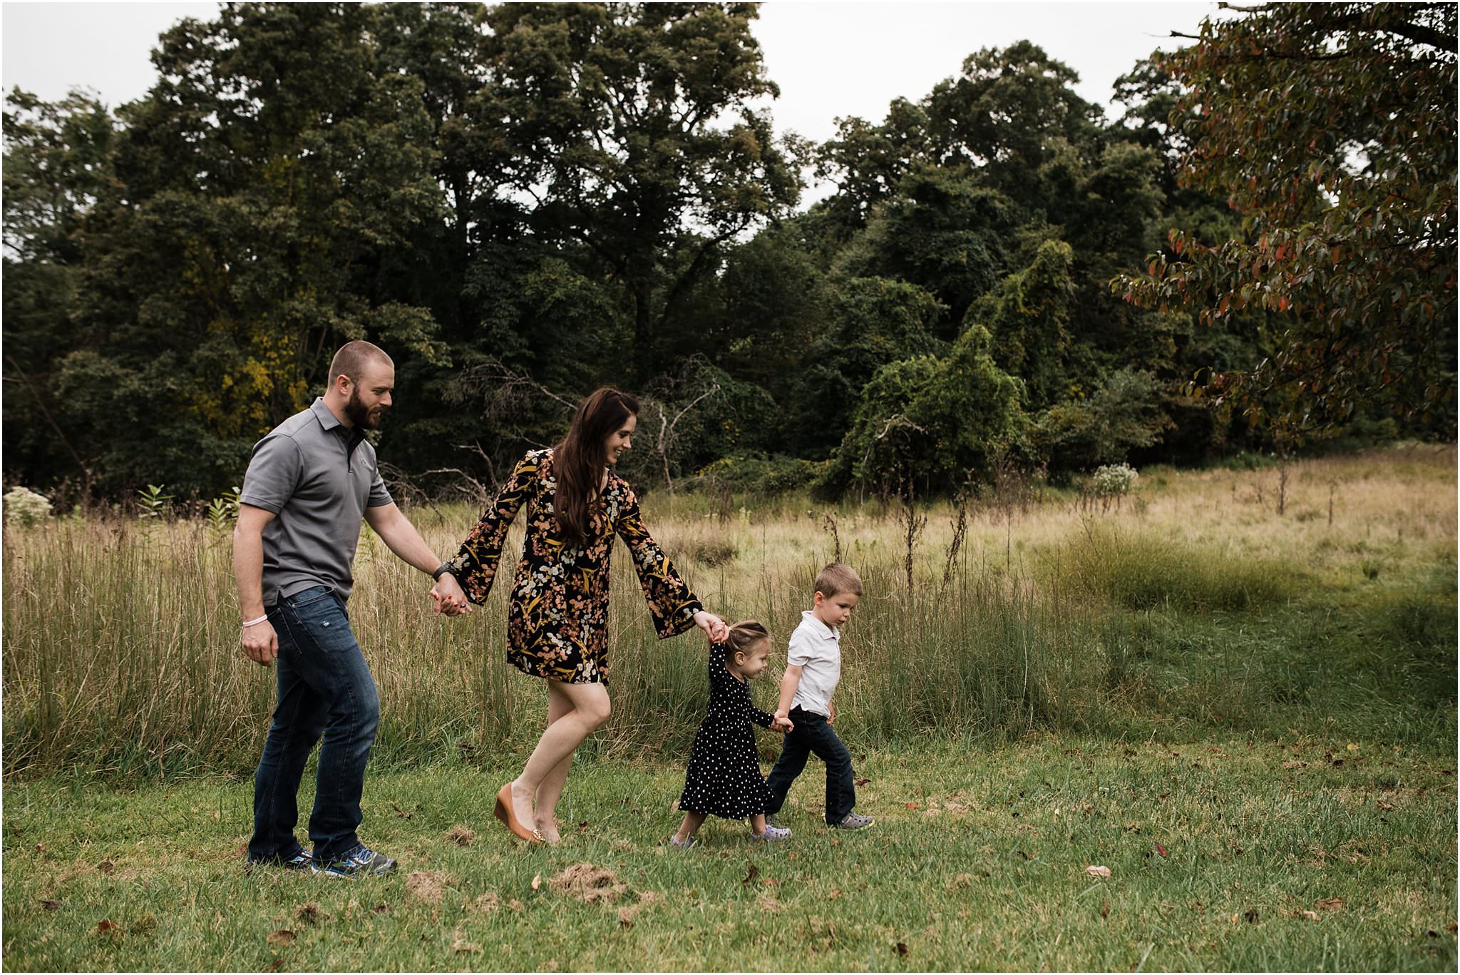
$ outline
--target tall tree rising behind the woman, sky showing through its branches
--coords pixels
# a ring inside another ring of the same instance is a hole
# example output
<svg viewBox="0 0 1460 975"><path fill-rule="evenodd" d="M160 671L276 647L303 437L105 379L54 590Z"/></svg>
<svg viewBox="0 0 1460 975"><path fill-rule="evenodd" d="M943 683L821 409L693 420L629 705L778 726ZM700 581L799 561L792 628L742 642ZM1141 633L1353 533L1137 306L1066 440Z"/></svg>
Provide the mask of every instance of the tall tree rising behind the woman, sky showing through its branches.
<svg viewBox="0 0 1460 975"><path fill-rule="evenodd" d="M718 249L800 193L796 161L752 107L778 94L755 16L749 3L488 13L504 105L536 162L518 189L537 196L545 232L581 241L622 278L641 382L676 358L666 320Z"/></svg>

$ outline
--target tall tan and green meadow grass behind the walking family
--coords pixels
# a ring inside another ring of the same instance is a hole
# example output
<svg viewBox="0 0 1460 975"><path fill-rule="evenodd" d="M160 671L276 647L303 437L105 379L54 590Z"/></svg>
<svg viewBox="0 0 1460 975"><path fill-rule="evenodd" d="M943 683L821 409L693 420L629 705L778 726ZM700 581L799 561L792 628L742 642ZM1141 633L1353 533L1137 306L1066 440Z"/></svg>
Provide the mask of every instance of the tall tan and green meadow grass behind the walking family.
<svg viewBox="0 0 1460 975"><path fill-rule="evenodd" d="M950 503L918 503L911 551L896 501L653 494L645 519L708 608L761 618L778 640L823 563L858 569L838 728L866 747L1333 722L1432 743L1454 728L1454 472L1453 447L1302 460L1280 516L1272 469L1150 469L1118 507L1073 490L990 497L964 510L962 534ZM441 554L476 517L410 515ZM520 547L515 526L504 561ZM702 716L704 643L654 639L622 548L613 573L613 715L590 750L677 756ZM429 580L368 531L355 574L378 763L531 747L545 694L504 659L505 579L473 615L432 617ZM253 767L273 674L238 650L231 536L216 525L7 526L3 595L7 776ZM777 678L772 667L759 703Z"/></svg>

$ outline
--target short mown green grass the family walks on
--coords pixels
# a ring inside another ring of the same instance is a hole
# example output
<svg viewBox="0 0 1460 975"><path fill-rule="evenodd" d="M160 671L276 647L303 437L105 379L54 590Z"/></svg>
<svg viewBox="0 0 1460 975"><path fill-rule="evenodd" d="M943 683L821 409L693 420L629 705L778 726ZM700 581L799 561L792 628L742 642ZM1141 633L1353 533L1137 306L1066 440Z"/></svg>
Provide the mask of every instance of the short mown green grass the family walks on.
<svg viewBox="0 0 1460 975"><path fill-rule="evenodd" d="M402 861L374 881L245 873L247 781L12 784L4 966L1454 971L1442 751L1342 735L853 748L877 823L822 829L813 769L796 836L769 849L724 820L666 849L682 785L667 763L580 763L555 849L491 819L501 766L374 773L364 832ZM456 824L477 830L469 846L447 838ZM555 892L580 862L625 892ZM423 871L439 900L413 892Z"/></svg>

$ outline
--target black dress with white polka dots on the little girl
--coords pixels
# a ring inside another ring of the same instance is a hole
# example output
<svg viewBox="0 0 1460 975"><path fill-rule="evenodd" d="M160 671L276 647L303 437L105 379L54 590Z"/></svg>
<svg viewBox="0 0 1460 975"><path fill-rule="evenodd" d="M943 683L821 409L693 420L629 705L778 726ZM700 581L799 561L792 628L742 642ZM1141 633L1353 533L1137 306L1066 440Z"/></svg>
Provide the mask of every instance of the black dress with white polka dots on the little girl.
<svg viewBox="0 0 1460 975"><path fill-rule="evenodd" d="M755 707L748 683L726 669L726 645L712 643L710 713L695 732L679 808L724 819L765 813L765 778L750 722L769 728L774 718Z"/></svg>

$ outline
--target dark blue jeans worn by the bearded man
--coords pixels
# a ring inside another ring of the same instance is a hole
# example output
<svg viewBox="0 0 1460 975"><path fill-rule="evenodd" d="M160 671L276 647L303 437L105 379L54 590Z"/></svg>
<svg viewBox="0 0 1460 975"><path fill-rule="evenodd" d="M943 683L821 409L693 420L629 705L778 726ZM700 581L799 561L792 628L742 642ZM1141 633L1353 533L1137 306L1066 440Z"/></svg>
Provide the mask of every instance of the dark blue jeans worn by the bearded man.
<svg viewBox="0 0 1460 975"><path fill-rule="evenodd" d="M279 634L279 705L254 775L248 860L288 860L299 852L293 835L299 781L323 734L310 839L314 858L327 862L359 843L355 830L380 696L345 602L328 586L282 598L269 608L269 623Z"/></svg>

